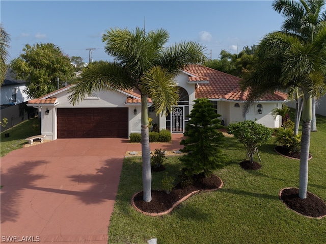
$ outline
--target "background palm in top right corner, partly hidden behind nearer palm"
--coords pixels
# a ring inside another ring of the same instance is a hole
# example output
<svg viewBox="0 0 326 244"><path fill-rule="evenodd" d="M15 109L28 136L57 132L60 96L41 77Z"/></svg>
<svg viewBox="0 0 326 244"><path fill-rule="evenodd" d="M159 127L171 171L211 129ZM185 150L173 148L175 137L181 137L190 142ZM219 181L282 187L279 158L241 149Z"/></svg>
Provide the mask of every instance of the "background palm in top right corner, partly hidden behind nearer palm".
<svg viewBox="0 0 326 244"><path fill-rule="evenodd" d="M281 13L286 19L283 22L282 30L297 35L308 41L313 41L316 31L320 23L326 21L326 10L323 10L324 0L300 0L300 1L283 1L277 0L273 2L272 7L278 13ZM317 79L316 82L320 82ZM320 91L315 90L312 98L312 123L311 131L317 131L316 125L316 100L318 96L323 95L325 90L322 86L317 85ZM296 103L298 101L296 100ZM300 104L297 105L294 133L297 133L298 123L300 121Z"/></svg>

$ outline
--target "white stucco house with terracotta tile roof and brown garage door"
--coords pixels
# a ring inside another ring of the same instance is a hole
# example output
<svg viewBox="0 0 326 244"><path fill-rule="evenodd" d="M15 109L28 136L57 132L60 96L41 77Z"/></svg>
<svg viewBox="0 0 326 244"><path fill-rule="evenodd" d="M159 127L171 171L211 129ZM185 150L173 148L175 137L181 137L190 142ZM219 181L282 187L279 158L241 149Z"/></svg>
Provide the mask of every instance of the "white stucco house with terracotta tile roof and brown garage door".
<svg viewBox="0 0 326 244"><path fill-rule="evenodd" d="M149 116L159 129L183 133L188 122L186 115L192 110L196 98L209 98L221 114L225 125L236 121L257 120L270 128L280 127L281 120L274 120L271 110L281 107L287 94L276 92L253 103L249 113L242 115L248 93L241 92L240 78L201 65L191 65L176 77L180 88L180 101L171 113L155 116L151 99L148 99ZM137 91L98 91L85 100L71 105L69 88L32 99L28 106L41 109L41 133L46 140L57 138L128 138L132 132L141 131L141 96Z"/></svg>

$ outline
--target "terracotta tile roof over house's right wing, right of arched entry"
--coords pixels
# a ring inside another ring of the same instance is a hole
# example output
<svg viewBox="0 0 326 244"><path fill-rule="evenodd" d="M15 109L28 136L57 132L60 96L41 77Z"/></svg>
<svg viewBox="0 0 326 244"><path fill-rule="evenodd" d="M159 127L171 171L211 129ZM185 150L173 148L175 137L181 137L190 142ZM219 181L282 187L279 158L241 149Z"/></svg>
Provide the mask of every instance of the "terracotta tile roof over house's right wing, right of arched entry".
<svg viewBox="0 0 326 244"><path fill-rule="evenodd" d="M208 84L199 84L196 86L196 98L227 99L235 101L247 100L248 91L241 91L239 87L241 78L239 77L201 65L189 65L184 71L197 77L207 77L207 80L209 80ZM275 92L274 94L264 96L261 100L282 101L286 99L287 94Z"/></svg>

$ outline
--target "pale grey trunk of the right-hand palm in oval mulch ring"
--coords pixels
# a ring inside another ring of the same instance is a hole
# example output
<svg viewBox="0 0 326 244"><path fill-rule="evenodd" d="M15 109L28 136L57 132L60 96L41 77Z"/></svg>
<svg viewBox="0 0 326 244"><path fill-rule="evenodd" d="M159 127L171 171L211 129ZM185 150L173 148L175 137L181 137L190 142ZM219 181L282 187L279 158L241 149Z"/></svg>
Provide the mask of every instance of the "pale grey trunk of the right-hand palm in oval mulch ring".
<svg viewBox="0 0 326 244"><path fill-rule="evenodd" d="M300 174L299 174L299 197L307 198L308 187L308 159L310 147L310 127L311 127L311 95L305 94L304 107L302 113L302 137L301 137L301 154L300 154Z"/></svg>

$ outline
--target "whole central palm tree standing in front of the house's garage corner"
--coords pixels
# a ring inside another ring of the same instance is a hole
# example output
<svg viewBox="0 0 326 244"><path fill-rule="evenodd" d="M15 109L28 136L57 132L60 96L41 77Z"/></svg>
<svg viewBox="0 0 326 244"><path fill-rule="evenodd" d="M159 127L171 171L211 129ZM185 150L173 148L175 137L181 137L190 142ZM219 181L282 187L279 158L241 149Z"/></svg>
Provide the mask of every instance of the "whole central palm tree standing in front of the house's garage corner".
<svg viewBox="0 0 326 244"><path fill-rule="evenodd" d="M138 89L141 92L141 132L144 201L150 202L151 168L147 102L150 97L156 114L166 114L177 104L176 74L188 64L205 60L204 47L195 42L181 42L164 47L169 33L164 29L111 29L103 35L105 51L114 62L96 62L83 70L83 77L71 88L70 102L83 100L92 91Z"/></svg>

